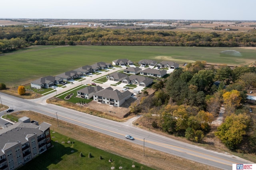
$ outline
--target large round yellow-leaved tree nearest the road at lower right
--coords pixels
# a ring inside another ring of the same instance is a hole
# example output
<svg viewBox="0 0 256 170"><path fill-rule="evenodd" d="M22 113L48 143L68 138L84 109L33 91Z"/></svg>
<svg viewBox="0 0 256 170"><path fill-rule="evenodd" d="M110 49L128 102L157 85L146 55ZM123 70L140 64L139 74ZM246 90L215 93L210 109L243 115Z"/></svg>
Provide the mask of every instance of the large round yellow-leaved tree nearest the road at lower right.
<svg viewBox="0 0 256 170"><path fill-rule="evenodd" d="M241 143L243 136L246 134L246 127L249 124L248 115L240 114L235 115L231 114L227 116L224 123L220 125L215 132L215 136L217 136L222 143L228 149L234 149Z"/></svg>

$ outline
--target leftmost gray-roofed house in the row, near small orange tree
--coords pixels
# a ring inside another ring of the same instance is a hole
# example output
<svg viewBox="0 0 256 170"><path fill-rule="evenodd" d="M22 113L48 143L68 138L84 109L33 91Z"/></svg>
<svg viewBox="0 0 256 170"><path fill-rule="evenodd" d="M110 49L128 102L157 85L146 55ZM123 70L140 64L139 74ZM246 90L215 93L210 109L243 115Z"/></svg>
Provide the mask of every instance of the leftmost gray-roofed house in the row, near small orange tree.
<svg viewBox="0 0 256 170"><path fill-rule="evenodd" d="M63 81L62 78L60 77L54 77L54 76L47 76L47 77L42 77L40 79L37 79L35 81L32 81L30 83L31 88L35 89L42 89L42 88L49 88L53 86L54 84L59 84Z"/></svg>

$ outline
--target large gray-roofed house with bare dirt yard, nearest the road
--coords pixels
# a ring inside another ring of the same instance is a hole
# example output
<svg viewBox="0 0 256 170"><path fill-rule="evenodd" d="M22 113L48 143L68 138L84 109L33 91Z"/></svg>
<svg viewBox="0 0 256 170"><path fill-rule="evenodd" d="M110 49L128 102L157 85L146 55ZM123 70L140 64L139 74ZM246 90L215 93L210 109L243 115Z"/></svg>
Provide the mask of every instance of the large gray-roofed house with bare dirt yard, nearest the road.
<svg viewBox="0 0 256 170"><path fill-rule="evenodd" d="M98 91L93 95L93 101L104 103L111 106L120 107L127 99L132 96L130 91L123 93L118 90L113 90L111 87Z"/></svg>

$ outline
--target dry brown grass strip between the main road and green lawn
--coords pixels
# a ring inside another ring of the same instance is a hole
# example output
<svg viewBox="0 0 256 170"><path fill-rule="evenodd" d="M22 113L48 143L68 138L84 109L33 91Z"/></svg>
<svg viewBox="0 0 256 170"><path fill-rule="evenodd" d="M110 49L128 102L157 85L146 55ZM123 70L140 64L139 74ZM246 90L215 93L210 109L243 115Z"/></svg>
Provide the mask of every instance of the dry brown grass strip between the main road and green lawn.
<svg viewBox="0 0 256 170"><path fill-rule="evenodd" d="M194 170L194 169L204 169L204 170L215 170L217 168L207 166L204 164L199 164L197 162L186 160L177 156L159 152L151 148L145 147L145 156L143 156L143 146L138 144L133 144L132 142L113 138L105 134L101 134L87 128L83 128L77 125L73 125L64 121L59 120L59 127L57 125L57 120L52 117L47 117L39 113L34 113L31 111L20 111L18 117L30 117L31 120L36 120L39 123L47 122L52 126L51 130L54 130L58 133L64 134L75 140L79 140L91 146L100 148L107 152L117 154L146 166L158 170Z"/></svg>

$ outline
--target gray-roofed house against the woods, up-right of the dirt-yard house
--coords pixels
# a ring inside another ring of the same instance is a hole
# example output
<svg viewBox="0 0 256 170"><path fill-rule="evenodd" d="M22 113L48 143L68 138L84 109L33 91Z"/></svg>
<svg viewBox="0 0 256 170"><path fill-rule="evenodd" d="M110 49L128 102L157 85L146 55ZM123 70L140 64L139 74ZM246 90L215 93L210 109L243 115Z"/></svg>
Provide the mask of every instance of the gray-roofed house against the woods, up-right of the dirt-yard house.
<svg viewBox="0 0 256 170"><path fill-rule="evenodd" d="M153 79L142 75L130 75L126 79L122 80L122 83L134 84L143 87L147 87L153 83Z"/></svg>

